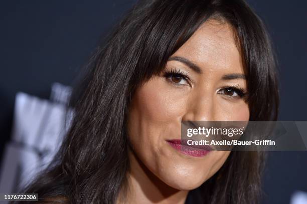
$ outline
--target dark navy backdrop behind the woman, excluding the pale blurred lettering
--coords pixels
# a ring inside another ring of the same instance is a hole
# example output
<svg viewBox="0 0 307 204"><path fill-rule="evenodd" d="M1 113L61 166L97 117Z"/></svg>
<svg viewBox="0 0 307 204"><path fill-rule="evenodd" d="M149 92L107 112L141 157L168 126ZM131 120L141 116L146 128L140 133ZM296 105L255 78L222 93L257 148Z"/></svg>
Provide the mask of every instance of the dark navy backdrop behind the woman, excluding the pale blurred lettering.
<svg viewBox="0 0 307 204"><path fill-rule="evenodd" d="M307 2L249 0L267 26L278 60L279 120L307 120ZM134 1L2 1L0 134L10 140L15 95L48 99L53 82L72 85L98 41ZM269 152L263 203L307 192L307 152Z"/></svg>

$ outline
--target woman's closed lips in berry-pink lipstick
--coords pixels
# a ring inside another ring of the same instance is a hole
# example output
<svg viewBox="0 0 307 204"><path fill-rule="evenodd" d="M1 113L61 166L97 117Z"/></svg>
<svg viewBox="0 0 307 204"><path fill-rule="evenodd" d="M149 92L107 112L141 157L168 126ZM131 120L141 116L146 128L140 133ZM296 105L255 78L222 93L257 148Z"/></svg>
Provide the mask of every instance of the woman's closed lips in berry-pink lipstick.
<svg viewBox="0 0 307 204"><path fill-rule="evenodd" d="M206 156L213 149L209 145L188 145L188 140L172 139L167 142L177 151L194 157Z"/></svg>

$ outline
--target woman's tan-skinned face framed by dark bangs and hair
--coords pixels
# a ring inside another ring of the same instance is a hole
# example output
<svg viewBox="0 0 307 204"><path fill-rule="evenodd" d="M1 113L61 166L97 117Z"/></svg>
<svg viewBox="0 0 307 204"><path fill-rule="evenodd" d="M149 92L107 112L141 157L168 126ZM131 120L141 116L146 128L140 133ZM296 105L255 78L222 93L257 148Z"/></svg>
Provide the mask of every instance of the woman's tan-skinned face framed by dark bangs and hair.
<svg viewBox="0 0 307 204"><path fill-rule="evenodd" d="M146 81L133 96L128 116L133 154L129 158L137 158L173 188L200 186L230 153L193 156L176 150L168 141L181 139L182 121L249 120L247 85L234 36L229 24L206 21L171 56L161 75Z"/></svg>

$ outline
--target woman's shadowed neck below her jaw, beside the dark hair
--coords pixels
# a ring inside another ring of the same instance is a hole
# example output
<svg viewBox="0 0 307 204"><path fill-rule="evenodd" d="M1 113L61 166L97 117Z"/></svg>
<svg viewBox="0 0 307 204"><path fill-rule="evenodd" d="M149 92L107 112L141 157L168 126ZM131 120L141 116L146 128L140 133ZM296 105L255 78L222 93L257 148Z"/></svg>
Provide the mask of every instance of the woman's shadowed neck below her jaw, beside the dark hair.
<svg viewBox="0 0 307 204"><path fill-rule="evenodd" d="M127 172L126 188L119 193L117 204L122 203L179 203L184 204L189 190L178 190L154 175L129 150L130 170Z"/></svg>

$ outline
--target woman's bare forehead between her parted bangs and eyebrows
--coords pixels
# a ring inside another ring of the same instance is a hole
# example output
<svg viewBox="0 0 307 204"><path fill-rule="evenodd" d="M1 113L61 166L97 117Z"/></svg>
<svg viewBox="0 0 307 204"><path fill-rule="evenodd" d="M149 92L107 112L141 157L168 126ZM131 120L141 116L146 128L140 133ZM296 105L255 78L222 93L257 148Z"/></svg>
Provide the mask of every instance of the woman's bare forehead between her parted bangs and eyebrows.
<svg viewBox="0 0 307 204"><path fill-rule="evenodd" d="M204 72L244 73L233 28L217 20L203 23L174 56L193 61Z"/></svg>

